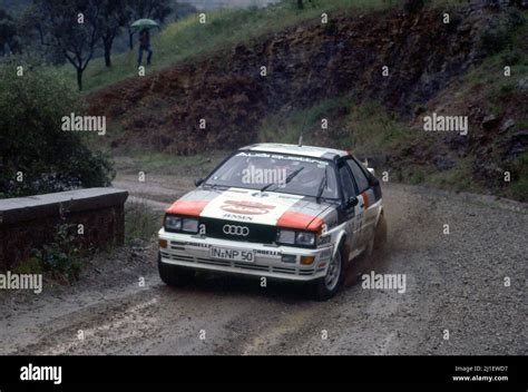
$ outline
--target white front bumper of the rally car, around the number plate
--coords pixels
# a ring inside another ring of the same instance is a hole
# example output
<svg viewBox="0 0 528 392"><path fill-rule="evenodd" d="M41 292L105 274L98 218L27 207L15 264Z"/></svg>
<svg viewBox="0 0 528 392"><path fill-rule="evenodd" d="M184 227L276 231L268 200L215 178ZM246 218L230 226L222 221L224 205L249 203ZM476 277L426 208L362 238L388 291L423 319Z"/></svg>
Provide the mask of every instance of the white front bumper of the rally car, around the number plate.
<svg viewBox="0 0 528 392"><path fill-rule="evenodd" d="M285 281L307 282L326 274L332 255L332 246L322 248L299 248L247 242L218 239L199 235L169 233L162 228L158 233L160 263L179 265L197 271L211 271L270 277ZM211 248L250 251L253 262L218 259L211 257ZM286 263L283 255L291 255L295 262ZM302 257L313 257L312 264L301 264Z"/></svg>

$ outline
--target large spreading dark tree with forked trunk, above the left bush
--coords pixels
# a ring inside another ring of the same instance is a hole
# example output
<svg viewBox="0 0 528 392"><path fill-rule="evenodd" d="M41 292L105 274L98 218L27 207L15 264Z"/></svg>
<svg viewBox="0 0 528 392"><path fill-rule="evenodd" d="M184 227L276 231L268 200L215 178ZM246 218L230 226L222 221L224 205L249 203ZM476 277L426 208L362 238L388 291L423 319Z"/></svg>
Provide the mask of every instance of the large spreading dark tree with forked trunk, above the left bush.
<svg viewBox="0 0 528 392"><path fill-rule="evenodd" d="M36 29L40 42L58 48L77 71L82 89L82 72L94 57L100 39L104 0L33 0Z"/></svg>

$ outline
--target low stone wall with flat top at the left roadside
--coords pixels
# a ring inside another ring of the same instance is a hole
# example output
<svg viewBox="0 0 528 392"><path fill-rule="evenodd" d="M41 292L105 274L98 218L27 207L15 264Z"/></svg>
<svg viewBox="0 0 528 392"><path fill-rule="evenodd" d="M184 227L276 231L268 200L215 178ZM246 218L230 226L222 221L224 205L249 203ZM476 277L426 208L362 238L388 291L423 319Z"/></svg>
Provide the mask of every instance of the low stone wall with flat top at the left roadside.
<svg viewBox="0 0 528 392"><path fill-rule="evenodd" d="M89 188L0 199L0 271L17 267L31 249L56 241L61 225L87 247L123 245L127 197L121 189Z"/></svg>

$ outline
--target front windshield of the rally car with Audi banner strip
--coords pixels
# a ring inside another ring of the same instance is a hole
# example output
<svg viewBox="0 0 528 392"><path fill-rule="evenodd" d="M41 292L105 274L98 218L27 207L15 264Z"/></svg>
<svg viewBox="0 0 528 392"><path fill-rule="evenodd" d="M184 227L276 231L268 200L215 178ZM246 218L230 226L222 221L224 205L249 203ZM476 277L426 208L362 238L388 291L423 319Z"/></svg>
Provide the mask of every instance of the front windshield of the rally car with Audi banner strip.
<svg viewBox="0 0 528 392"><path fill-rule="evenodd" d="M271 153L237 153L213 171L205 185L339 197L335 171L329 161Z"/></svg>

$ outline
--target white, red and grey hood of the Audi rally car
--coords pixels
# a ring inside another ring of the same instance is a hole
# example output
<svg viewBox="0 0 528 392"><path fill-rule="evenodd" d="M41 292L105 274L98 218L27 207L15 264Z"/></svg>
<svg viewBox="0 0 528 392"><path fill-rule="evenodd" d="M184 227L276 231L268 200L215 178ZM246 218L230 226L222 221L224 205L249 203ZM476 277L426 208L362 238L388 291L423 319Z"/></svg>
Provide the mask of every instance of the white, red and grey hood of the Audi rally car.
<svg viewBox="0 0 528 392"><path fill-rule="evenodd" d="M255 189L198 188L174 203L168 214L273 225L296 229L319 229L331 204L305 197Z"/></svg>

